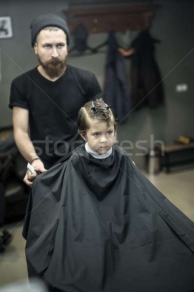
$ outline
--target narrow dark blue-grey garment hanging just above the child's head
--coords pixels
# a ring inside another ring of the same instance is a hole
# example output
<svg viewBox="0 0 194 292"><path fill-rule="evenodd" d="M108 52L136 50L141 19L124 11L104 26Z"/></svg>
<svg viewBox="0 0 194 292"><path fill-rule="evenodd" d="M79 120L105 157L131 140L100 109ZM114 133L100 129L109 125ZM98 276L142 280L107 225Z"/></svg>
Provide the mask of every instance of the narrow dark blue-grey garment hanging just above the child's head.
<svg viewBox="0 0 194 292"><path fill-rule="evenodd" d="M104 100L108 105L111 105L111 109L119 122L130 112L130 96L123 57L118 51L113 31L109 32L108 37Z"/></svg>

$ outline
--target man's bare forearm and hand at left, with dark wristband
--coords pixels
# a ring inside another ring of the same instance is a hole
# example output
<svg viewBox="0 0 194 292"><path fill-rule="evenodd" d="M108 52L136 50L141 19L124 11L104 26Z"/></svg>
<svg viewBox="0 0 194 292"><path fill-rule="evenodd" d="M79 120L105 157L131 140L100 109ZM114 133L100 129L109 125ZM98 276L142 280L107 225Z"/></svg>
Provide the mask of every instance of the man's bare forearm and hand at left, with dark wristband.
<svg viewBox="0 0 194 292"><path fill-rule="evenodd" d="M31 163L31 161L34 158L38 158L38 156L28 134L28 125L29 111L23 108L13 107L13 127L15 142L21 155L25 158L25 160L27 160L27 162ZM36 172L46 171L44 164L39 159L35 160L32 165ZM35 174L31 174L30 171L27 170L24 177L24 183L32 186L33 179L36 177L36 172Z"/></svg>

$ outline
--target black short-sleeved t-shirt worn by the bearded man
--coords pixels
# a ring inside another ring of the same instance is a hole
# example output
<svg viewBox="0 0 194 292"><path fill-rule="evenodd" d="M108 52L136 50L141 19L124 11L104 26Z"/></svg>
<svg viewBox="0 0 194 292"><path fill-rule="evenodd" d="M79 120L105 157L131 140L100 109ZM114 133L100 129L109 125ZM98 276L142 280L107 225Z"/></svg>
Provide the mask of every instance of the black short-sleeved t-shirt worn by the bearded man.
<svg viewBox="0 0 194 292"><path fill-rule="evenodd" d="M83 143L77 131L78 111L100 94L95 75L86 70L68 65L53 82L36 67L13 80L9 107L29 110L31 140L45 167L50 167Z"/></svg>

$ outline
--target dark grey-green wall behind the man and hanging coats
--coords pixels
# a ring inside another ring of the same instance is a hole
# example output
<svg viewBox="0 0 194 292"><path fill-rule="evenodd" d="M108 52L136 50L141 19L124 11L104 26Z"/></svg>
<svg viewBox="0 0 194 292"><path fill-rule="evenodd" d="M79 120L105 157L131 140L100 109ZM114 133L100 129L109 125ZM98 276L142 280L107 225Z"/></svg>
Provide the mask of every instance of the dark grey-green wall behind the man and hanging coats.
<svg viewBox="0 0 194 292"><path fill-rule="evenodd" d="M134 111L126 118L118 130L118 139L130 140L134 145L132 159L139 167L144 165L144 157L139 156L141 146L148 146L150 135L155 140L172 143L182 135L194 136L194 1L153 1L161 5L151 28L153 37L161 40L156 45L156 59L164 78L165 106L156 110L143 108ZM1 74L0 83L0 126L12 124L12 111L8 109L10 85L13 78L37 65L36 57L30 45L29 25L36 15L44 13L61 14L67 9L64 0L56 1L14 1L0 2L0 16L11 16L14 37L1 39ZM106 40L106 34L90 35L88 44L95 46ZM104 51L106 50L103 49ZM192 51L192 52L191 52ZM190 53L191 52L191 53ZM106 53L69 57L69 64L87 69L96 74L103 87L105 78ZM129 71L129 61L126 61ZM188 84L188 91L176 92L176 84ZM129 146L128 142L123 144ZM138 155L137 155L138 154Z"/></svg>

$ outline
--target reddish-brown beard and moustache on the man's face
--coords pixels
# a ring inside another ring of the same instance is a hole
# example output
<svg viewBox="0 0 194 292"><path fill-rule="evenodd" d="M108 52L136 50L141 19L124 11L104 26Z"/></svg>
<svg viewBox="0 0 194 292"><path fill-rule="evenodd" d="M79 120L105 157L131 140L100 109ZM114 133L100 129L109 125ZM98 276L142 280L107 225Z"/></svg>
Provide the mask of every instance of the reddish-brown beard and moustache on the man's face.
<svg viewBox="0 0 194 292"><path fill-rule="evenodd" d="M42 62L39 55L37 55L37 57L40 65L50 78L53 79L60 77L65 72L65 69L67 67L67 56L65 59L52 57L50 60L44 63Z"/></svg>

